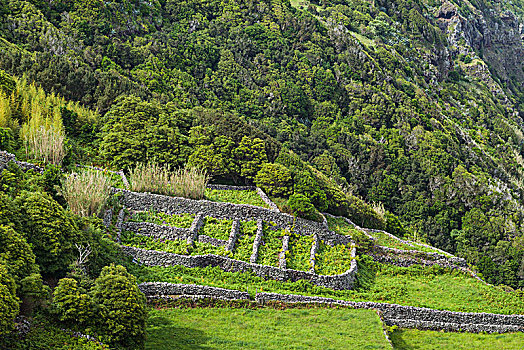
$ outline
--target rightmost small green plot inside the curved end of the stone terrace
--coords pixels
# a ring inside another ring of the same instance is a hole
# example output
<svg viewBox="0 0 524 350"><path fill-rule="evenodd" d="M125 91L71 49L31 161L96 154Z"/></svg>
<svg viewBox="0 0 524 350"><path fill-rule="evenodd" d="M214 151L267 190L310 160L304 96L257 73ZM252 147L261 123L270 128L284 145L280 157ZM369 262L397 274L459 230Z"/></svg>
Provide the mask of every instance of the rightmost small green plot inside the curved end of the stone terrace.
<svg viewBox="0 0 524 350"><path fill-rule="evenodd" d="M334 247L320 243L315 255L315 272L319 275L339 275L351 268L351 247L338 244Z"/></svg>

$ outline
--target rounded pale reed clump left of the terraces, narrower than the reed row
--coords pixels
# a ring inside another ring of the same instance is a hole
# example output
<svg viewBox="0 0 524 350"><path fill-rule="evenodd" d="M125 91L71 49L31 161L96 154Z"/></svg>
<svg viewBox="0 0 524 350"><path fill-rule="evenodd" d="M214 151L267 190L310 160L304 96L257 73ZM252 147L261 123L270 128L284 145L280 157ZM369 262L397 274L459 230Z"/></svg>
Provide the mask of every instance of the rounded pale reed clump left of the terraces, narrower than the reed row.
<svg viewBox="0 0 524 350"><path fill-rule="evenodd" d="M98 214L111 193L111 179L100 171L83 170L62 181L62 195L69 209L80 216Z"/></svg>

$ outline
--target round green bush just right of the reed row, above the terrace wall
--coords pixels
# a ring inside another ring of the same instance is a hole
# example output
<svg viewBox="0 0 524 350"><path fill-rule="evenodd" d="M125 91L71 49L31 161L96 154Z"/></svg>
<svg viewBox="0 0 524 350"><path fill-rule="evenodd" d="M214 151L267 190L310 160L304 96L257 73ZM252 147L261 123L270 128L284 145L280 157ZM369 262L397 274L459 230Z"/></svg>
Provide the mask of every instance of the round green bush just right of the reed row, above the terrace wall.
<svg viewBox="0 0 524 350"><path fill-rule="evenodd" d="M271 196L288 197L293 192L291 172L281 164L262 165L255 177L255 183Z"/></svg>

